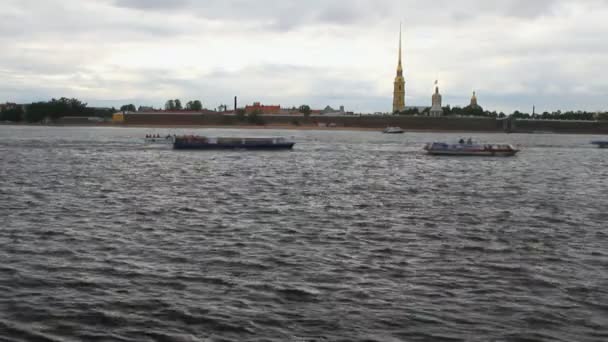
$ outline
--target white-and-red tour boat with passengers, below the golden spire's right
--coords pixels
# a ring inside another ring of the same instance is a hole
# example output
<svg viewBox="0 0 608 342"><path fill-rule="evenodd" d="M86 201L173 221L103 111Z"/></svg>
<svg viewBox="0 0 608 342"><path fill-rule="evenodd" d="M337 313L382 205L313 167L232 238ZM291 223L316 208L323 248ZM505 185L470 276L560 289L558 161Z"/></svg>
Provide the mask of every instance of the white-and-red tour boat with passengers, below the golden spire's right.
<svg viewBox="0 0 608 342"><path fill-rule="evenodd" d="M479 157L512 157L519 150L509 144L448 144L435 142L424 147L427 154L434 156L479 156Z"/></svg>

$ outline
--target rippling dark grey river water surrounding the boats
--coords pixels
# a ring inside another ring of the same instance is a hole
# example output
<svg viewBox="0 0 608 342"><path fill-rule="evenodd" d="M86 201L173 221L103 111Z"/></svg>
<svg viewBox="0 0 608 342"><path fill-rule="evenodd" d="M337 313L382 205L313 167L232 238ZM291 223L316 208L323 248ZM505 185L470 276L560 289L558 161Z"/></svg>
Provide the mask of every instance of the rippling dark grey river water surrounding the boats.
<svg viewBox="0 0 608 342"><path fill-rule="evenodd" d="M0 126L0 341L608 340L608 151L460 137Z"/></svg>

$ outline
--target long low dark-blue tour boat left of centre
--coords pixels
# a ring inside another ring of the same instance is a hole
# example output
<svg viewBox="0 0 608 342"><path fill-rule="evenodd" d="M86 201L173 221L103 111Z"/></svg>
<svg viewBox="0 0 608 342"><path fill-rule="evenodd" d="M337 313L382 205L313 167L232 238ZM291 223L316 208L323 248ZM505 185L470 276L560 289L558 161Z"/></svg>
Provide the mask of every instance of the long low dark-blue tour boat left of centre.
<svg viewBox="0 0 608 342"><path fill-rule="evenodd" d="M295 142L282 138L215 138L180 136L175 138L176 150L291 150Z"/></svg>

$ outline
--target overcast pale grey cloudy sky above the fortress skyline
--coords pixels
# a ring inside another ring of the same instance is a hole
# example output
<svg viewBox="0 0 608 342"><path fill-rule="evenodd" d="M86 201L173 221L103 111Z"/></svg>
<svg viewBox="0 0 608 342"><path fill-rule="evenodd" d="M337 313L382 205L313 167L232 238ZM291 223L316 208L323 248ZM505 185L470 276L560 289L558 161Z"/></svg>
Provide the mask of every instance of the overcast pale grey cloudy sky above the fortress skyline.
<svg viewBox="0 0 608 342"><path fill-rule="evenodd" d="M0 102L608 110L608 0L2 0Z"/></svg>

